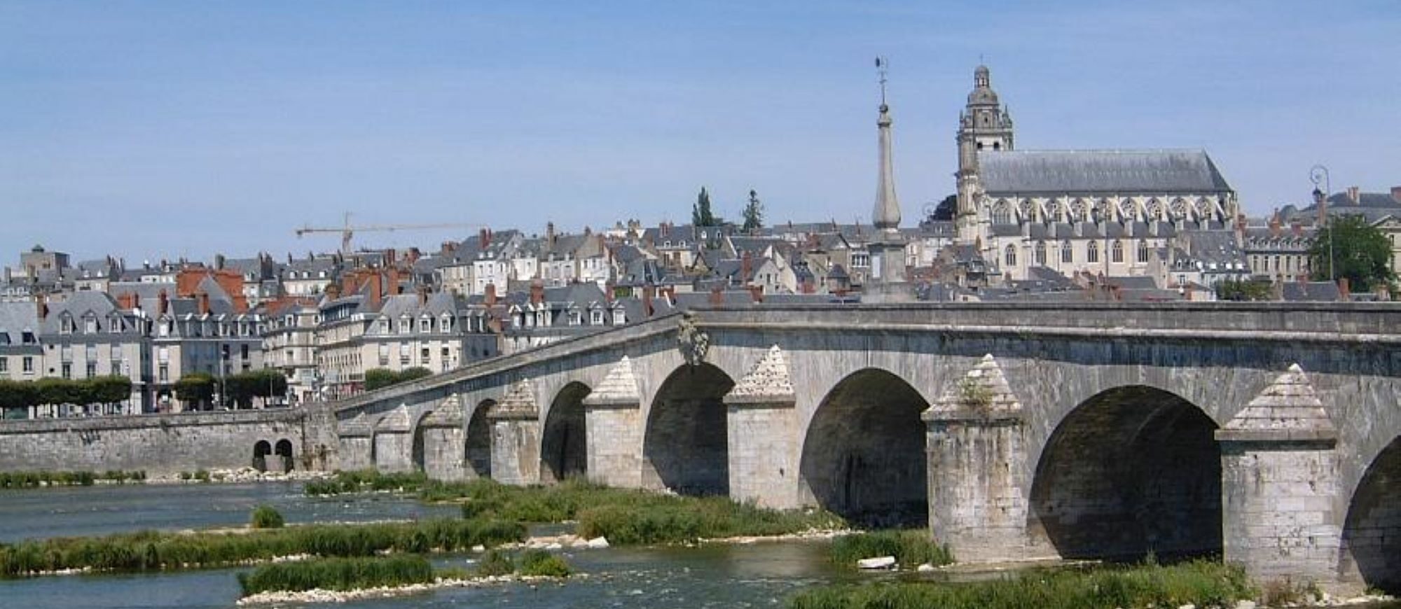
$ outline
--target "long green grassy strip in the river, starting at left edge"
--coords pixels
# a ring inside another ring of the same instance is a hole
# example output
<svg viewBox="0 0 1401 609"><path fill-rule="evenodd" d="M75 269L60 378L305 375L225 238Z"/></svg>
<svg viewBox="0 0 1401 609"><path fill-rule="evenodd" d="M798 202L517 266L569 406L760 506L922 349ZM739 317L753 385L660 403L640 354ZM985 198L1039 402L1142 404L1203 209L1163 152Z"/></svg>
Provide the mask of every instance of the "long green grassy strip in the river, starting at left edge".
<svg viewBox="0 0 1401 609"><path fill-rule="evenodd" d="M0 577L67 570L156 571L207 568L280 556L374 556L380 552L454 552L525 539L525 526L493 518L364 525L310 525L247 532L137 532L0 545Z"/></svg>

